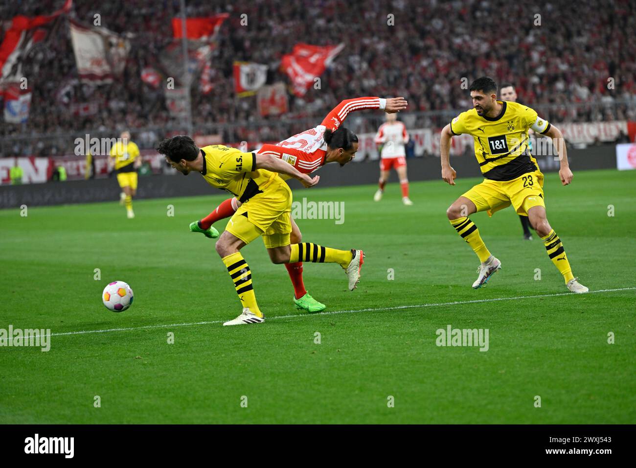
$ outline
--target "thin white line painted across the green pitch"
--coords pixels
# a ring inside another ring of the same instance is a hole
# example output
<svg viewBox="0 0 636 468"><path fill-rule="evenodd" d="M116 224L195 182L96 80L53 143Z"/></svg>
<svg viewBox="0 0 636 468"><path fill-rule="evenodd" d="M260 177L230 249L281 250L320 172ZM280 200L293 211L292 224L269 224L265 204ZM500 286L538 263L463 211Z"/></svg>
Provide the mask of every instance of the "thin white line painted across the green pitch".
<svg viewBox="0 0 636 468"><path fill-rule="evenodd" d="M590 291L588 294L596 294L599 292L617 292L617 291L631 291L636 290L633 288L616 288L616 289L599 289L596 291ZM491 299L473 299L472 301L453 301L453 302L438 302L432 304L415 304L413 306L394 306L394 307L379 307L369 309L352 309L352 310L339 310L331 312L319 312L319 313L304 313L293 315L278 315L268 318L268 320L278 318L294 318L294 317L310 317L317 315L335 315L335 314L350 314L356 312L377 312L383 310L400 310L400 309L414 309L424 307L441 307L441 306L457 306L462 304L479 304L481 302L497 302L497 301L515 301L517 299L536 299L537 297L557 297L562 295L572 295L571 292L560 292L556 294L537 294L537 295L520 295L514 297L493 297ZM78 332L64 332L64 333L52 333L50 336L65 336L65 335L85 335L89 333L106 333L106 332L125 332L130 330L142 330L142 329L159 329L169 327L191 327L193 325L212 325L214 323L223 323L225 320L211 320L209 322L191 322L191 323L170 323L169 325L142 325L141 327L127 327L118 329L105 329L105 330L80 330Z"/></svg>

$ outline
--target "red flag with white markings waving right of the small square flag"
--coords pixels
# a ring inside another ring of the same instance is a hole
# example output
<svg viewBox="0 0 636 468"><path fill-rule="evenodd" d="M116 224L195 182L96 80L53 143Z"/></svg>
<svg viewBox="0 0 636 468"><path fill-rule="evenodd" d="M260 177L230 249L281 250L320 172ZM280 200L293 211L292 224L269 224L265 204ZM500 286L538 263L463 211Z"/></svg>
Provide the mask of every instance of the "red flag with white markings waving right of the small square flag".
<svg viewBox="0 0 636 468"><path fill-rule="evenodd" d="M283 55L280 67L289 75L294 94L305 96L315 78L324 73L344 46L343 43L334 46L299 43L294 45L291 53Z"/></svg>

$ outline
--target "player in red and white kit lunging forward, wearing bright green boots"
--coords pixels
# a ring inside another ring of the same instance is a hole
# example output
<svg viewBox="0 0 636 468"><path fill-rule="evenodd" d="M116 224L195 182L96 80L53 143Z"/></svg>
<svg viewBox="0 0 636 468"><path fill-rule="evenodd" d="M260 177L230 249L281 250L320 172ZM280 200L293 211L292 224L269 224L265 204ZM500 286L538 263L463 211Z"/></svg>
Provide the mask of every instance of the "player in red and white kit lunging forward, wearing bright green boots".
<svg viewBox="0 0 636 468"><path fill-rule="evenodd" d="M358 148L356 134L341 126L349 113L367 109L380 109L387 113L396 113L406 109L406 106L407 103L403 97L345 99L329 112L317 127L287 138L278 145L263 145L258 153L270 154L286 160L298 171L305 174L310 174L329 162L337 162L340 166L344 166L354 159ZM236 198L227 199L202 220L190 223L190 230L202 232L208 238L218 238L219 232L212 227L212 223L229 218L245 201ZM302 234L293 218L291 224L291 242L300 243ZM285 264L285 266L294 286L296 308L305 309L308 312L319 312L326 308L324 304L311 297L305 289L302 262Z"/></svg>

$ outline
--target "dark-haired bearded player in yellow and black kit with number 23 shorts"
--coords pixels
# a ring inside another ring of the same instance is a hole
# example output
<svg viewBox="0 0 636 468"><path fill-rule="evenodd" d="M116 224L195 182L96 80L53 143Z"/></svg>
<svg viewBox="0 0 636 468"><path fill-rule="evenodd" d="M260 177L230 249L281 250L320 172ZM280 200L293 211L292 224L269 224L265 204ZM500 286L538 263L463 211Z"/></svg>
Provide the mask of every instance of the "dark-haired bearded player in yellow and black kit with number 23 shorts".
<svg viewBox="0 0 636 468"><path fill-rule="evenodd" d="M554 125L539 117L536 111L518 103L497 101L497 83L484 76L470 88L473 109L453 118L441 132L441 176L455 185L455 169L450 166L449 148L453 135L467 133L474 138L475 157L485 180L463 194L446 210L448 220L458 234L473 248L481 261L479 276L473 288L480 288L501 268L501 262L488 252L479 229L468 218L476 211L488 215L511 204L518 214L528 215L541 236L550 260L563 275L572 292L588 292L570 268L561 240L548 223L543 200L543 174L528 148L528 131L553 139L559 154L559 177L563 185L572 181L563 135Z"/></svg>

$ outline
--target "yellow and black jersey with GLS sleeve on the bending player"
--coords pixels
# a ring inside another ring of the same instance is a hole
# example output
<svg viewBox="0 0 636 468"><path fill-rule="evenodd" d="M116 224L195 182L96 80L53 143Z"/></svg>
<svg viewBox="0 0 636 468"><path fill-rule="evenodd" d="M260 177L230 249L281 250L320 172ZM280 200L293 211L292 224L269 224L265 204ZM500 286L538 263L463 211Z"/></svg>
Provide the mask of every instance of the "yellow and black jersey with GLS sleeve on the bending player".
<svg viewBox="0 0 636 468"><path fill-rule="evenodd" d="M201 173L207 183L230 192L240 202L265 192L273 182L284 183L279 174L256 169L254 153L223 145L204 146L201 153L204 157Z"/></svg>

